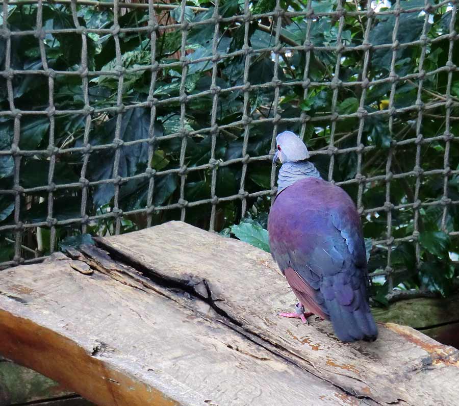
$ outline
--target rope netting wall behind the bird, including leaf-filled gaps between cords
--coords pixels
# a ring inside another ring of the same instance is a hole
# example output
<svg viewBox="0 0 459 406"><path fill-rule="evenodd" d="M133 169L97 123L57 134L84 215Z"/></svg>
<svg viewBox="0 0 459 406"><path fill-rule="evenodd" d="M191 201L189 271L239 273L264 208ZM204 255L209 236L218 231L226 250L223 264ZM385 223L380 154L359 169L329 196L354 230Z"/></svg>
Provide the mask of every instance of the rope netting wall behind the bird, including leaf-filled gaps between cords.
<svg viewBox="0 0 459 406"><path fill-rule="evenodd" d="M275 136L289 129L354 198L364 229L379 227L372 275L392 292L397 246L409 243L422 265L426 211L459 235L457 2L212 4L3 2L0 266L39 261L66 233L169 219L220 232L269 208ZM35 45L18 64L27 41ZM47 102L31 107L21 97L35 83ZM34 177L42 168L46 179ZM435 193L425 192L432 179Z"/></svg>

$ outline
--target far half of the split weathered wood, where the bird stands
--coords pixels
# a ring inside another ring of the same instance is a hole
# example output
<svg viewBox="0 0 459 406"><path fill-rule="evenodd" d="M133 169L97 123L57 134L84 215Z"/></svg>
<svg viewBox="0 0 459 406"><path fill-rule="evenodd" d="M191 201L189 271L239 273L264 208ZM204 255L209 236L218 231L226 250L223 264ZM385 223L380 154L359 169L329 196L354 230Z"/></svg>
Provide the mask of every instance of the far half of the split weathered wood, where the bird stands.
<svg viewBox="0 0 459 406"><path fill-rule="evenodd" d="M181 222L98 242L116 259L203 297L243 334L287 350L292 363L356 398L459 404L448 384L459 378L459 353L452 347L391 323L380 325L374 343L343 344L326 321L305 326L279 318L295 298L264 251Z"/></svg>

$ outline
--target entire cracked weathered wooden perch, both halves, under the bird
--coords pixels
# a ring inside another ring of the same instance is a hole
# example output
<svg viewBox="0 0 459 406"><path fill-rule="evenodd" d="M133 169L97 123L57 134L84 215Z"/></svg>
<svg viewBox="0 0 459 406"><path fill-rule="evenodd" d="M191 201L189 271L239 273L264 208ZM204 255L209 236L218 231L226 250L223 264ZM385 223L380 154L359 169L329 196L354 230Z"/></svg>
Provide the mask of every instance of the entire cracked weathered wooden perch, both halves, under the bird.
<svg viewBox="0 0 459 406"><path fill-rule="evenodd" d="M264 251L182 222L97 245L0 272L0 354L98 406L459 404L459 351L411 327L279 318Z"/></svg>

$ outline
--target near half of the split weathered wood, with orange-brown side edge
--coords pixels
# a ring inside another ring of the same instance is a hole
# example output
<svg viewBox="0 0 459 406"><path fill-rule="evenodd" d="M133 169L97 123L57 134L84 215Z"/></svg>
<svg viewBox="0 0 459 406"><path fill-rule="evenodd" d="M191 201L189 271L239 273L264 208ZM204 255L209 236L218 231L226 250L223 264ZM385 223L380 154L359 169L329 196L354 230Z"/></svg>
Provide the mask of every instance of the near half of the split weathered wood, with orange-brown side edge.
<svg viewBox="0 0 459 406"><path fill-rule="evenodd" d="M92 274L63 256L0 272L3 356L99 406L375 404L249 341L179 286L94 252Z"/></svg>

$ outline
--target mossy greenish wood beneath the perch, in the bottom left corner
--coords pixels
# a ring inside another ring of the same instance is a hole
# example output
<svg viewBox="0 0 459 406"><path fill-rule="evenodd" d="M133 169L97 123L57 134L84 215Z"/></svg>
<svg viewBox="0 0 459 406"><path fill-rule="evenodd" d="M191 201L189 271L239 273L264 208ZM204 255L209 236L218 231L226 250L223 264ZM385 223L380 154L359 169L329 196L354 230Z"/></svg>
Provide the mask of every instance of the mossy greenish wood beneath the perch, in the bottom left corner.
<svg viewBox="0 0 459 406"><path fill-rule="evenodd" d="M13 362L0 362L0 406L72 394L62 385Z"/></svg>

